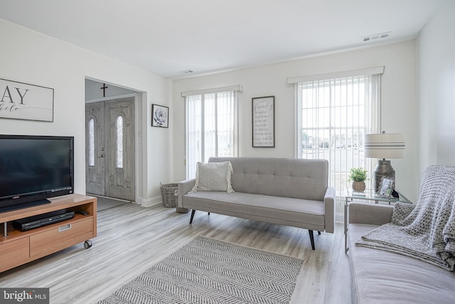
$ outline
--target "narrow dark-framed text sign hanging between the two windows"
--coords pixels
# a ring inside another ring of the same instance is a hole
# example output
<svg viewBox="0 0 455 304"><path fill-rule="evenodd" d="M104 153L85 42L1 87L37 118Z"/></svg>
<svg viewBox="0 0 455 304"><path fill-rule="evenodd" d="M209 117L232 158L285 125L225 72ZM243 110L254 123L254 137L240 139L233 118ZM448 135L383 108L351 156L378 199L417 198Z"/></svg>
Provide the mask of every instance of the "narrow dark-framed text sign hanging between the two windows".
<svg viewBox="0 0 455 304"><path fill-rule="evenodd" d="M275 96L252 98L253 147L275 147Z"/></svg>

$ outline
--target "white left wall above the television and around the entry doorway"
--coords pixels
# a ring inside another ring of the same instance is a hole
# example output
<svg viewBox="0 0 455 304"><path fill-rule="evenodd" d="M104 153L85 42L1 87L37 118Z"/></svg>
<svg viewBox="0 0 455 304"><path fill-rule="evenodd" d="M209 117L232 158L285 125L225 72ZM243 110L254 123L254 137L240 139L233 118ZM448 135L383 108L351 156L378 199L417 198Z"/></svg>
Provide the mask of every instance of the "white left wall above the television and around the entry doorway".
<svg viewBox="0 0 455 304"><path fill-rule="evenodd" d="M75 137L75 192L85 193L85 78L144 92L138 127L139 147L145 155L138 202L161 201L159 182L172 179L171 131L152 128L151 103L171 102L171 80L114 61L82 48L0 19L0 78L54 89L54 121L0 118L0 132L16 135Z"/></svg>

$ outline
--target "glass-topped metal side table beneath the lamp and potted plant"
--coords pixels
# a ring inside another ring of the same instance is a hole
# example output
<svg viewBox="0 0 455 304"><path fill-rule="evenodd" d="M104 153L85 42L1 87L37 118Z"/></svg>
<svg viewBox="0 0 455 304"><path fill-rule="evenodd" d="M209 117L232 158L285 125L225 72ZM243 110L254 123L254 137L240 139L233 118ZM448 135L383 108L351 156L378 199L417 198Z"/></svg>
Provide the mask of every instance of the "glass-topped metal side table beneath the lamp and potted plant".
<svg viewBox="0 0 455 304"><path fill-rule="evenodd" d="M397 191L397 190L395 190ZM398 191L397 191L398 192ZM348 248L348 206L351 201L361 200L365 202L371 202L375 204L395 204L398 201L401 203L412 204L412 201L406 198L403 194L398 192L399 198L390 196L382 196L378 192L374 192L373 189L365 189L364 192L355 192L352 188L345 189L344 196L344 252L347 253Z"/></svg>

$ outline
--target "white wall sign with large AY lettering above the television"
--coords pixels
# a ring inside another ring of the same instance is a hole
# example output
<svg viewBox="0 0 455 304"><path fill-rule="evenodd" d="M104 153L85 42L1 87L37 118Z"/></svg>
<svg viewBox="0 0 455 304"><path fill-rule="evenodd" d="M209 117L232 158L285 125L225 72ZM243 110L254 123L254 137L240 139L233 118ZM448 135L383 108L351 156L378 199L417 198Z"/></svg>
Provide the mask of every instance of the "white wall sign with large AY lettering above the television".
<svg viewBox="0 0 455 304"><path fill-rule="evenodd" d="M53 121L53 89L0 79L0 94L0 118Z"/></svg>

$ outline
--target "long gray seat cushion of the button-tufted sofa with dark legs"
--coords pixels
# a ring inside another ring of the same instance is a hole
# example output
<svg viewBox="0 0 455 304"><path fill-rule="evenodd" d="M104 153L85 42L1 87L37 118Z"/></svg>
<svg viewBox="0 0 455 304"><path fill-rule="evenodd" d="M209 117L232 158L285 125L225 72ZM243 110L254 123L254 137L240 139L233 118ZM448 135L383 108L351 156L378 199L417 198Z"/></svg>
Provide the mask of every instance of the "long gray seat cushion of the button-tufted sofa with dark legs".
<svg viewBox="0 0 455 304"><path fill-rule="evenodd" d="M188 209L212 211L246 219L323 231L324 203L307 199L234 192L191 192L183 196ZM311 228L310 228L311 229Z"/></svg>

